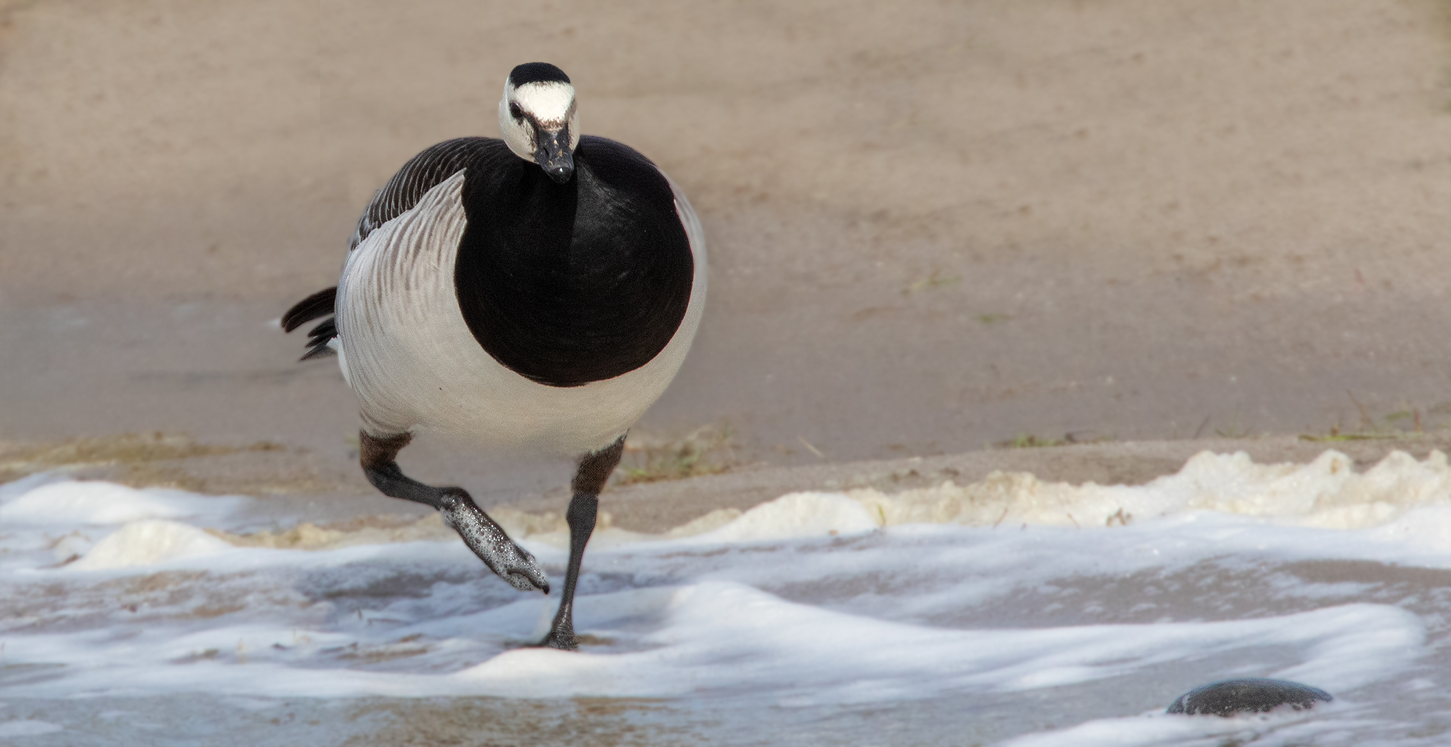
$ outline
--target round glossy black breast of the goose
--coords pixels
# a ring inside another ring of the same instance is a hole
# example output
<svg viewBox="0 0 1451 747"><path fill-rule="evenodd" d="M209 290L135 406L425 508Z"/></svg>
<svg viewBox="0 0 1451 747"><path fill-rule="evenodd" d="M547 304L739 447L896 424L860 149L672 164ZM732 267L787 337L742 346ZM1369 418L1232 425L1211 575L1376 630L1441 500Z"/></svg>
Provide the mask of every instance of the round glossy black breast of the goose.
<svg viewBox="0 0 1451 747"><path fill-rule="evenodd" d="M469 331L501 364L550 386L650 363L691 300L695 263L670 184L631 148L585 136L553 183L501 141L464 176L454 284Z"/></svg>

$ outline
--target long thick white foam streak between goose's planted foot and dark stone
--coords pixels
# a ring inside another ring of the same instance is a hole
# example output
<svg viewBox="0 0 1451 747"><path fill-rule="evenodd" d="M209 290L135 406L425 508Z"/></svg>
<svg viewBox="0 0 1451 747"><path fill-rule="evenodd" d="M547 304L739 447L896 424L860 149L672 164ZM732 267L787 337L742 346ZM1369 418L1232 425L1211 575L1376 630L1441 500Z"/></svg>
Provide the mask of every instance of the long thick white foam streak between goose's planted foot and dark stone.
<svg viewBox="0 0 1451 747"><path fill-rule="evenodd" d="M785 602L744 585L692 585L663 596L647 651L562 654L519 648L460 672L472 692L522 698L669 698L772 692L794 705L858 703L950 692L1013 692L1120 676L1235 647L1315 647L1277 674L1354 688L1415 659L1425 630L1409 614L1349 605L1297 615L1174 625L953 631ZM618 603L640 614L640 599ZM591 621L593 625L607 621ZM592 627L593 627L592 625ZM1367 631L1377 631L1367 635ZM728 661L728 666L718 663Z"/></svg>

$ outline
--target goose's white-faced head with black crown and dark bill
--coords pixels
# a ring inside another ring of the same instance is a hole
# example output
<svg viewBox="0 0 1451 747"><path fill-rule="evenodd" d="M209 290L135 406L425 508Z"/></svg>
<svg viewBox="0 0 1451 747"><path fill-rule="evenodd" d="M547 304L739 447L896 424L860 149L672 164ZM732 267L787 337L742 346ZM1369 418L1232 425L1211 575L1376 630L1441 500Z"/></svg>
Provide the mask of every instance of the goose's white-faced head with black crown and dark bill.
<svg viewBox="0 0 1451 747"><path fill-rule="evenodd" d="M548 62L514 68L499 100L499 132L515 155L538 164L559 184L575 176L579 113L575 87Z"/></svg>

